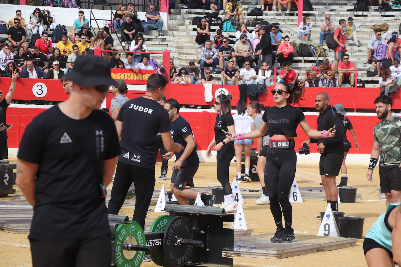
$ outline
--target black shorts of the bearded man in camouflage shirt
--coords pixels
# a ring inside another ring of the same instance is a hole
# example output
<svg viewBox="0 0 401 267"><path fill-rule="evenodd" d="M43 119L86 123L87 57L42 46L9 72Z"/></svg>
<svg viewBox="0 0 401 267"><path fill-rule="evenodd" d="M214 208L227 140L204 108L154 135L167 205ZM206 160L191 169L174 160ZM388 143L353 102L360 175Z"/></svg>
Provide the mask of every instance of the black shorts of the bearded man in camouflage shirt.
<svg viewBox="0 0 401 267"><path fill-rule="evenodd" d="M381 193L391 193L391 190L401 190L401 171L398 166L379 166Z"/></svg>

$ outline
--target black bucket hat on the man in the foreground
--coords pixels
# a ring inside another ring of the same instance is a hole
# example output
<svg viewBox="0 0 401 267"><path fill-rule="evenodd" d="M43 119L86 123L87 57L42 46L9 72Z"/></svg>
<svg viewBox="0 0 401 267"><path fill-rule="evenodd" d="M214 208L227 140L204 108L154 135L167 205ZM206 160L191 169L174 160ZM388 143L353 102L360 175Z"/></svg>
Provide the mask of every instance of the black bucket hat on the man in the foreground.
<svg viewBox="0 0 401 267"><path fill-rule="evenodd" d="M100 56L91 54L78 56L74 68L64 77L86 87L96 85L118 86L118 83L111 78L109 62Z"/></svg>

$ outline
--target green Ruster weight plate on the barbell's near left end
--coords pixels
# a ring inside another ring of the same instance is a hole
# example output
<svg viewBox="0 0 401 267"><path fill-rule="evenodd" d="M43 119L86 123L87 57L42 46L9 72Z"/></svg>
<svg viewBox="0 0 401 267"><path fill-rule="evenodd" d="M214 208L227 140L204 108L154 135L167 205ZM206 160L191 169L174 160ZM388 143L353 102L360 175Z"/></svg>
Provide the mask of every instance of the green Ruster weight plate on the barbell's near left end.
<svg viewBox="0 0 401 267"><path fill-rule="evenodd" d="M128 251L123 244L146 245L145 233L135 221L121 224L115 229L114 261L117 267L139 267L145 256L145 251Z"/></svg>

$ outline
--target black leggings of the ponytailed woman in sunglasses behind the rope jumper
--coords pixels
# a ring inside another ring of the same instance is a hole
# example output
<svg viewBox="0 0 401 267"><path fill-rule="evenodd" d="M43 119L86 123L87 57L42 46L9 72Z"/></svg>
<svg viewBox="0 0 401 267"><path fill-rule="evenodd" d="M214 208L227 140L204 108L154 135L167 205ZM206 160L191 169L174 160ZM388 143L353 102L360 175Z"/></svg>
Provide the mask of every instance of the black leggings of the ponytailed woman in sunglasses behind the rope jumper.
<svg viewBox="0 0 401 267"><path fill-rule="evenodd" d="M229 169L231 160L234 158L235 151L234 146L227 147L227 149L217 151L217 180L223 187L224 195L231 195L233 190L231 189L229 181Z"/></svg>

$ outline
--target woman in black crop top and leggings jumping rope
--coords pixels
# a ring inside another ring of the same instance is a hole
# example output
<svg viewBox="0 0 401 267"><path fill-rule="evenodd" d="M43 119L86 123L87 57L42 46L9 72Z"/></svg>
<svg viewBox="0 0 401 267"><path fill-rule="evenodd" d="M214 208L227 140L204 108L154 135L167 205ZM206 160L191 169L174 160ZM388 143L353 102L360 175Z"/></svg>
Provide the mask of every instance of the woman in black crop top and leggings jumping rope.
<svg viewBox="0 0 401 267"><path fill-rule="evenodd" d="M292 206L288 195L295 177L297 157L294 151L294 137L297 136L298 124L312 138L333 137L335 133L335 131L330 132L331 128L321 132L312 130L302 110L290 105L299 104L304 96L305 88L299 86L299 83L299 80L296 80L293 87L284 82L276 84L271 91L276 105L266 108L259 129L230 137L231 140L255 139L264 136L267 130L270 135L265 167L265 187L270 200L270 211L277 226L274 237L270 239L271 242L290 243L295 238L294 229L292 229ZM284 215L285 228L282 215Z"/></svg>

